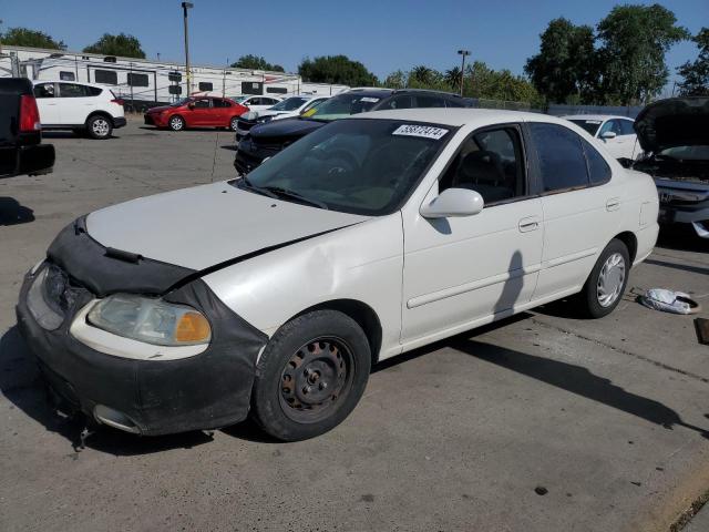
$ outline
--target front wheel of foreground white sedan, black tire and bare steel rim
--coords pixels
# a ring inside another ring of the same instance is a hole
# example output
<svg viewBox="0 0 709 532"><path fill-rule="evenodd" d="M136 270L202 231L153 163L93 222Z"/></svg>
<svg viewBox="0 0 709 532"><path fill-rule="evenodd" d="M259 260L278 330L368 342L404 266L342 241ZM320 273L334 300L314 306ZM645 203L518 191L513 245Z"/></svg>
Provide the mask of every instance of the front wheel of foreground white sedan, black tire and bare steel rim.
<svg viewBox="0 0 709 532"><path fill-rule="evenodd" d="M354 409L370 369L357 321L336 310L299 316L278 329L258 360L251 417L282 441L322 434Z"/></svg>

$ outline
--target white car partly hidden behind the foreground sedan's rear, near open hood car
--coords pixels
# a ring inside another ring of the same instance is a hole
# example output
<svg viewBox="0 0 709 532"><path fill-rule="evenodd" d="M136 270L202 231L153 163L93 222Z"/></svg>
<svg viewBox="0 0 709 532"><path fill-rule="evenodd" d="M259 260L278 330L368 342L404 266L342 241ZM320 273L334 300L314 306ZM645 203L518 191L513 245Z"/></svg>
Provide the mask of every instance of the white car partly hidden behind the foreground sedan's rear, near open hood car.
<svg viewBox="0 0 709 532"><path fill-rule="evenodd" d="M577 114L564 116L586 130L616 158L634 161L641 153L638 137L633 127L635 121L627 116L607 114Z"/></svg>

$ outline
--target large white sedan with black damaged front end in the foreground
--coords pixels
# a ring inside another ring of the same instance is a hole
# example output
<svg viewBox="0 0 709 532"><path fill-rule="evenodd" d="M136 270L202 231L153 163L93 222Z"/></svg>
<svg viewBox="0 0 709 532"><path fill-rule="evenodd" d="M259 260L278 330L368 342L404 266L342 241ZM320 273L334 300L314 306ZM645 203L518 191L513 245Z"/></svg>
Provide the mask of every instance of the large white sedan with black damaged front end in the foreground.
<svg viewBox="0 0 709 532"><path fill-rule="evenodd" d="M340 423L380 360L569 296L606 316L657 214L653 180L568 121L364 113L239 180L79 218L27 275L19 325L101 423L250 413L300 440Z"/></svg>

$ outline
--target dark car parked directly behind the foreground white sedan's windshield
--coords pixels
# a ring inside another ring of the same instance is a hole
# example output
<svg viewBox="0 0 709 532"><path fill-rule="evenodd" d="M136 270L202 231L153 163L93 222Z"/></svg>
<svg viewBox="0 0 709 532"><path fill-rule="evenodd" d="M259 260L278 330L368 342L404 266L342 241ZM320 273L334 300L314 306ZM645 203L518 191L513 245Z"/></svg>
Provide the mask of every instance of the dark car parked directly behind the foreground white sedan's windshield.
<svg viewBox="0 0 709 532"><path fill-rule="evenodd" d="M448 92L415 89L352 89L326 100L297 119L254 126L238 143L234 166L249 173L284 147L333 120L367 111L412 108L466 108L469 100Z"/></svg>

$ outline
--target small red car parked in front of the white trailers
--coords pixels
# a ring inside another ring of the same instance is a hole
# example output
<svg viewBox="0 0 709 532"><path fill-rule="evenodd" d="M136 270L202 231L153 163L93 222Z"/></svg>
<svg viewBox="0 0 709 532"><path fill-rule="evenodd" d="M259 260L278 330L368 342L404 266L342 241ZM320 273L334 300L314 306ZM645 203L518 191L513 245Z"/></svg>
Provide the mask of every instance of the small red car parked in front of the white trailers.
<svg viewBox="0 0 709 532"><path fill-rule="evenodd" d="M171 105L148 109L145 123L182 131L185 127L228 127L236 131L238 117L248 108L228 98L191 96Z"/></svg>

